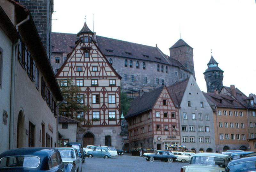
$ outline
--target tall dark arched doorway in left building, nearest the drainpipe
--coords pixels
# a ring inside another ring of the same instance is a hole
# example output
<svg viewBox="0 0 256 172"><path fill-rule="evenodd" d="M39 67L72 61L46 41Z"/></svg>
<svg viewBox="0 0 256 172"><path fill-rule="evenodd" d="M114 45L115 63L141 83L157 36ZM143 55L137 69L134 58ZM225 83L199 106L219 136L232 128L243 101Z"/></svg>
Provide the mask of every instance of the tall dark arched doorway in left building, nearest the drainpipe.
<svg viewBox="0 0 256 172"><path fill-rule="evenodd" d="M17 148L25 147L25 120L20 110L17 123Z"/></svg>

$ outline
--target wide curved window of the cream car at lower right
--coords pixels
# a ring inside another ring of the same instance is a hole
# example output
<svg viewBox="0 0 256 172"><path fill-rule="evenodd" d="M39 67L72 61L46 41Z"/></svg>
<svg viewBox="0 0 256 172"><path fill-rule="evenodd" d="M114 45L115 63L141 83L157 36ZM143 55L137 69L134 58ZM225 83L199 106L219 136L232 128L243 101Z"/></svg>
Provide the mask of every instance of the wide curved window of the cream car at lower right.
<svg viewBox="0 0 256 172"><path fill-rule="evenodd" d="M192 165L212 165L225 168L225 160L222 158L208 157L208 156L194 156L190 164Z"/></svg>

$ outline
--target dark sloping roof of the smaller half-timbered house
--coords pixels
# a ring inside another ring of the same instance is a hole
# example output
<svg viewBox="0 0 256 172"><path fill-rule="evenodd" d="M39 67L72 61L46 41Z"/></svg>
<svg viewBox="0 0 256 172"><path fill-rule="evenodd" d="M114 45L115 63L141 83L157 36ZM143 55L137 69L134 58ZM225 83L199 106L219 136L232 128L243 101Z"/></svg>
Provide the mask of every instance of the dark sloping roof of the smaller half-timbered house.
<svg viewBox="0 0 256 172"><path fill-rule="evenodd" d="M129 109L129 112L125 116L125 118L130 118L132 116L139 115L142 112L148 111L153 108L157 98L159 97L160 93L162 92L164 86L160 86L150 92L144 93L141 97L136 97L132 105Z"/></svg>

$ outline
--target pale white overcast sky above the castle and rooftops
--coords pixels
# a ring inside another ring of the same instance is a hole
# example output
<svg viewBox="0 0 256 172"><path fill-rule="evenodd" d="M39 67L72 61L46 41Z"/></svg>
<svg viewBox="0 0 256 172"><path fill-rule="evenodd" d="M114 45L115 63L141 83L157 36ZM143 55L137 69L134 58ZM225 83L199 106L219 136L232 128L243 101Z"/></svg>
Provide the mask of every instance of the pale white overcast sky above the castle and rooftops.
<svg viewBox="0 0 256 172"><path fill-rule="evenodd" d="M77 34L84 25L99 36L156 46L170 55L180 38L194 49L196 81L214 59L223 85L256 94L255 0L54 0L52 32ZM94 22L93 22L94 20Z"/></svg>

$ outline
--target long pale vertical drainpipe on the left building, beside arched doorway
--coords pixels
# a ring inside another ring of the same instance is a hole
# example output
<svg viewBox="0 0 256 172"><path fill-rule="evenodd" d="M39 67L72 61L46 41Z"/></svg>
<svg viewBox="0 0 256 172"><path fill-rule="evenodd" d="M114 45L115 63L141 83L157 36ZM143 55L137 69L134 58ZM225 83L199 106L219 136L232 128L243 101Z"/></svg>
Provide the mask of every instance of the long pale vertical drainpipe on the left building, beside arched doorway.
<svg viewBox="0 0 256 172"><path fill-rule="evenodd" d="M9 128L9 149L14 148L14 100L15 100L15 57L16 46L20 43L20 39L12 45L12 65L11 65L11 95L10 95L10 128Z"/></svg>

